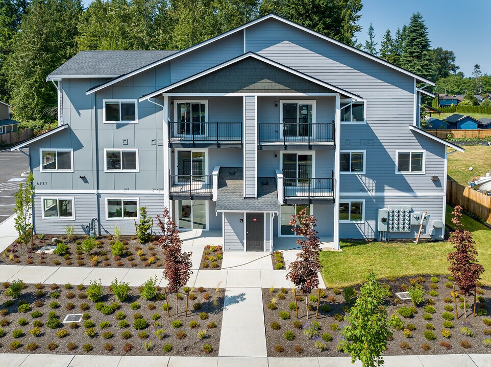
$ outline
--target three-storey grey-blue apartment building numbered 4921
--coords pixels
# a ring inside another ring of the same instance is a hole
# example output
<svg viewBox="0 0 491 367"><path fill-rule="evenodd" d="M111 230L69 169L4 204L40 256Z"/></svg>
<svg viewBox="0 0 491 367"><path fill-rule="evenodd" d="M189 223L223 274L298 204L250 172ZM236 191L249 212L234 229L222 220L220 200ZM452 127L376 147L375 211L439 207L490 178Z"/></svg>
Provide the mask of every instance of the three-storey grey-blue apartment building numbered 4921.
<svg viewBox="0 0 491 367"><path fill-rule="evenodd" d="M419 127L415 85L434 83L282 17L181 51L84 51L47 80L60 125L12 148L29 147L37 233L132 234L146 206L226 251L296 247L303 208L336 249L414 239L414 213L444 236L463 149Z"/></svg>

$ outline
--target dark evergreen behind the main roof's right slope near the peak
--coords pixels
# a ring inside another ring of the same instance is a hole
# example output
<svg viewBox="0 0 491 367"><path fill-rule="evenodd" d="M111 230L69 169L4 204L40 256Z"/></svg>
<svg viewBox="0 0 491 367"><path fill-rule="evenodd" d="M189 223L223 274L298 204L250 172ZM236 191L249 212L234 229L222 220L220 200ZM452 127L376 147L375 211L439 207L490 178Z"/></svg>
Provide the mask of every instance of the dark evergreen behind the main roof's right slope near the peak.
<svg viewBox="0 0 491 367"><path fill-rule="evenodd" d="M260 13L281 15L353 46L362 8L361 0L264 0Z"/></svg>

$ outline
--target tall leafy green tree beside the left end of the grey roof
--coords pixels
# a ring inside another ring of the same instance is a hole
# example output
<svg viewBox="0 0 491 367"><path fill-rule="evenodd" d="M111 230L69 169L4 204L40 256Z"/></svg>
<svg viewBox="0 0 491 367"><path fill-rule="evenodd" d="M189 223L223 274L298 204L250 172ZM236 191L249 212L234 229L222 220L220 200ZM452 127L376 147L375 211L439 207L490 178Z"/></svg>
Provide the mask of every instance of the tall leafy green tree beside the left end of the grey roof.
<svg viewBox="0 0 491 367"><path fill-rule="evenodd" d="M45 78L76 53L75 35L82 13L80 0L34 2L12 39L6 60L13 116L27 125L53 121L56 89Z"/></svg>

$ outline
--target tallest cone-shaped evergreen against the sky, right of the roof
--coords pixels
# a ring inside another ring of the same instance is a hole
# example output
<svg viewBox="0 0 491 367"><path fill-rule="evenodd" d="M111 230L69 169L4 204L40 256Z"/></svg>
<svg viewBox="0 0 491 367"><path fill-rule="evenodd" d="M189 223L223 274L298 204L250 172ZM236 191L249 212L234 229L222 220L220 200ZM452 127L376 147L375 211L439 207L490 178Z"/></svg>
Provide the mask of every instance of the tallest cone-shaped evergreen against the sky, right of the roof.
<svg viewBox="0 0 491 367"><path fill-rule="evenodd" d="M401 56L401 66L423 77L431 76L430 40L423 16L418 12L411 16Z"/></svg>

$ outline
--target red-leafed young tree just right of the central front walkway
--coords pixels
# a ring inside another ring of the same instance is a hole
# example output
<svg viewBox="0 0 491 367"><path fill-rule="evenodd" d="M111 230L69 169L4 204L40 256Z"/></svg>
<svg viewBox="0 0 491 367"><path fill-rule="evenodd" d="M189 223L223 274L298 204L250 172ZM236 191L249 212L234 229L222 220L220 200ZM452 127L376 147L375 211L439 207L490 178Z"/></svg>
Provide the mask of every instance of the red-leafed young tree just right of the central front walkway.
<svg viewBox="0 0 491 367"><path fill-rule="evenodd" d="M318 232L314 229L316 223L317 219L313 215L307 215L307 209L303 209L298 215L292 215L289 223L293 226L291 230L298 237L297 245L302 246L302 250L297 254L297 260L292 261L288 267L286 278L306 296L319 285L321 241L317 237ZM305 306L308 319L308 297L305 297Z"/></svg>

